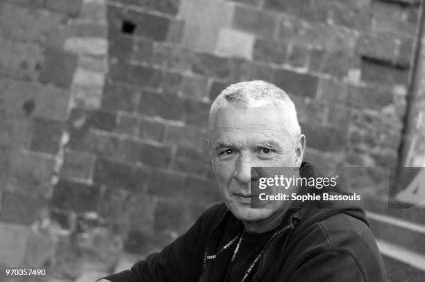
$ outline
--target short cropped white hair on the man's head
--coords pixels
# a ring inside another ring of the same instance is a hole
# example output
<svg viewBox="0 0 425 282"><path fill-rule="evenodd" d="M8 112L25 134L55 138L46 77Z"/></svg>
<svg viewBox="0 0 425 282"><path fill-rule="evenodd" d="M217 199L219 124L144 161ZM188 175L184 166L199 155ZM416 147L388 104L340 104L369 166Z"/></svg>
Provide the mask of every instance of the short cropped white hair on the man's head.
<svg viewBox="0 0 425 282"><path fill-rule="evenodd" d="M253 80L238 82L226 87L211 105L208 120L208 141L210 141L211 127L215 124L217 111L228 105L233 105L242 110L275 106L279 109L281 122L285 125L284 130L290 135L292 145L297 145L301 136L297 109L288 94L276 85L263 80Z"/></svg>

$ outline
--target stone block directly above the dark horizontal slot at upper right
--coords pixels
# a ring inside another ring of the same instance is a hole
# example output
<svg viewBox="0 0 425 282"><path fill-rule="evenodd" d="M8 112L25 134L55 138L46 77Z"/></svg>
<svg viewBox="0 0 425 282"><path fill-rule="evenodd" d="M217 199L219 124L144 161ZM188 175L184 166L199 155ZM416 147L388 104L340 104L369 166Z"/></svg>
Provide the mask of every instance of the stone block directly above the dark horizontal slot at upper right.
<svg viewBox="0 0 425 282"><path fill-rule="evenodd" d="M397 50L396 38L390 33L364 33L357 42L357 53L363 57L394 62Z"/></svg>

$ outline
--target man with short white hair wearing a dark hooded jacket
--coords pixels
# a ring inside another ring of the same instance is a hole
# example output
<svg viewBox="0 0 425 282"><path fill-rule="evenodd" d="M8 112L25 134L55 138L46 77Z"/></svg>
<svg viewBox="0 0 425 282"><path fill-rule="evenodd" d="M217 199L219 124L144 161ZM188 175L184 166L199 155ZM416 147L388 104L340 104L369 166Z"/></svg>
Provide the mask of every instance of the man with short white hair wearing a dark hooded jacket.
<svg viewBox="0 0 425 282"><path fill-rule="evenodd" d="M101 281L386 281L369 223L355 202L251 207L251 183L263 171L255 168L314 175L301 162L306 137L283 90L263 81L224 89L210 109L208 144L224 204L208 209L162 252Z"/></svg>

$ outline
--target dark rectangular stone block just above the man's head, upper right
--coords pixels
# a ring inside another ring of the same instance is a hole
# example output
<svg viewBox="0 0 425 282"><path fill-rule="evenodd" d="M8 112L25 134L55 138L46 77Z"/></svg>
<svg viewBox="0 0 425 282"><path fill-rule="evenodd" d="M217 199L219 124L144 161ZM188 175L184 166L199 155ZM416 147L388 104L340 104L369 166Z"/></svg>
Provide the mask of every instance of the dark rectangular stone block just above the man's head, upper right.
<svg viewBox="0 0 425 282"><path fill-rule="evenodd" d="M308 73L278 69L274 73L273 82L290 94L306 97L316 96L318 78Z"/></svg>

